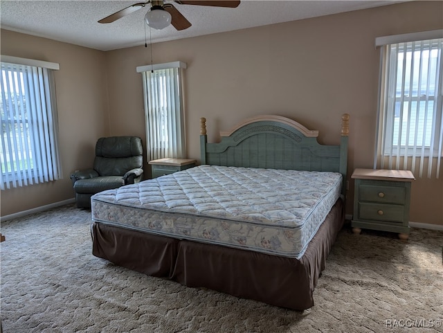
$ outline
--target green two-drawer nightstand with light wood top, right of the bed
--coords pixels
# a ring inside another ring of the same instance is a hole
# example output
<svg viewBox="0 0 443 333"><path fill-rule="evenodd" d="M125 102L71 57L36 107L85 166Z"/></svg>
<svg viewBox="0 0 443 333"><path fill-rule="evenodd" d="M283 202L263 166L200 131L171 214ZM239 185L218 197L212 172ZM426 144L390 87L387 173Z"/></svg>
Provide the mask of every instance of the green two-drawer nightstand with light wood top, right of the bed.
<svg viewBox="0 0 443 333"><path fill-rule="evenodd" d="M415 180L408 170L356 169L352 231L361 228L399 233L409 237L410 185Z"/></svg>

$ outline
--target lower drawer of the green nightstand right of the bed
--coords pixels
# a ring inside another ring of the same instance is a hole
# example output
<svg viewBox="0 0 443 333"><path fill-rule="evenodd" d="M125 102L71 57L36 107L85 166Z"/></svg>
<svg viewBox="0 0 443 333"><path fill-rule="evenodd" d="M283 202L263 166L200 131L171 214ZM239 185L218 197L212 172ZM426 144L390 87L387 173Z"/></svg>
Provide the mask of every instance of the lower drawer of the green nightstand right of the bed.
<svg viewBox="0 0 443 333"><path fill-rule="evenodd" d="M404 222L405 206L359 203L359 219L386 222Z"/></svg>

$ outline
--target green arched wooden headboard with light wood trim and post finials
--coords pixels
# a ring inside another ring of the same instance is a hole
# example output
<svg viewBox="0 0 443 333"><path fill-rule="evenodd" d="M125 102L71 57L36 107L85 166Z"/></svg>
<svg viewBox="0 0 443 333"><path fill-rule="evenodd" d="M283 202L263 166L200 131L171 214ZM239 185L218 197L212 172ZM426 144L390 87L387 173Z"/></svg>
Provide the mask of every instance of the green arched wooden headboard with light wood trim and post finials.
<svg viewBox="0 0 443 333"><path fill-rule="evenodd" d="M345 195L349 114L341 120L340 145L320 145L318 131L273 115L249 118L221 133L219 143L208 143L206 118L201 118L201 164L340 172Z"/></svg>

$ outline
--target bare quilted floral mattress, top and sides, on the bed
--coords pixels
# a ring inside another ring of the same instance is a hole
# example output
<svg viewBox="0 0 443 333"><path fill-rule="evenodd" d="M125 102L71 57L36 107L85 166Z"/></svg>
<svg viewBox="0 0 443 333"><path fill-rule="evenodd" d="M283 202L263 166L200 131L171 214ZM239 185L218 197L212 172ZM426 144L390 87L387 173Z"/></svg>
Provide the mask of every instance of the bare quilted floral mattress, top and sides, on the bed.
<svg viewBox="0 0 443 333"><path fill-rule="evenodd" d="M300 258L342 175L200 165L91 197L94 222Z"/></svg>

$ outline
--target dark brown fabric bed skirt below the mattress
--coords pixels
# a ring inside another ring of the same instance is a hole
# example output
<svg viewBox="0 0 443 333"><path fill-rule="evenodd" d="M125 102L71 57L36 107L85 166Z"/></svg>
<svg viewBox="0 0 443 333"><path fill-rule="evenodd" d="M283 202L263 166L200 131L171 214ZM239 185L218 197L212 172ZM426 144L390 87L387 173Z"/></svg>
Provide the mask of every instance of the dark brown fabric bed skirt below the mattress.
<svg viewBox="0 0 443 333"><path fill-rule="evenodd" d="M338 199L300 259L178 240L94 222L93 255L188 287L206 287L270 305L304 310L344 222Z"/></svg>

